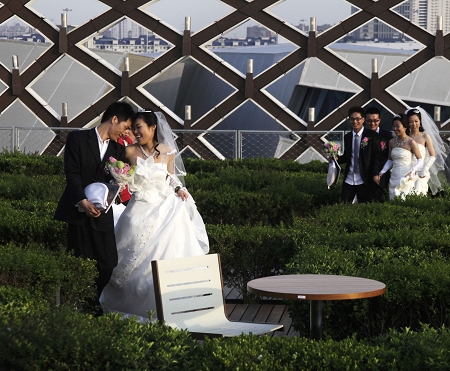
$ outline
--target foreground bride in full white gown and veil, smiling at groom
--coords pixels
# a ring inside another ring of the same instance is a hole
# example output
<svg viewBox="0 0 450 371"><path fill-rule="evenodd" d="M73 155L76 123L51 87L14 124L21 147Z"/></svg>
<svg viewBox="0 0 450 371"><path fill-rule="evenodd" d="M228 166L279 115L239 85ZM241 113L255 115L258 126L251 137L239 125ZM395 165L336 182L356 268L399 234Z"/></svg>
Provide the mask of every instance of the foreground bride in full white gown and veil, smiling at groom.
<svg viewBox="0 0 450 371"><path fill-rule="evenodd" d="M127 160L137 165L129 184L132 198L116 228L119 262L100 297L105 312L148 318L156 311L151 261L204 255L205 225L178 176L185 175L169 124L160 112L138 112L137 143Z"/></svg>

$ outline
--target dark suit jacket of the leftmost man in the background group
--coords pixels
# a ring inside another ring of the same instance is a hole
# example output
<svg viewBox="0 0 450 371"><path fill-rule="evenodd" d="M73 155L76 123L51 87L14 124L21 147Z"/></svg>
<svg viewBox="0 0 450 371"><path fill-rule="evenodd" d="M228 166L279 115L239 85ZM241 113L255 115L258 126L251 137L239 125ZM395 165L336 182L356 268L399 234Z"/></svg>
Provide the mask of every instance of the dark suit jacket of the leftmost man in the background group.
<svg viewBox="0 0 450 371"><path fill-rule="evenodd" d="M359 148L359 169L365 185L375 184L373 177L380 172L380 139L375 131L363 128L361 143L368 138L367 146ZM353 130L344 136L344 154L338 157L339 164L347 164L344 171L344 182L352 163Z"/></svg>

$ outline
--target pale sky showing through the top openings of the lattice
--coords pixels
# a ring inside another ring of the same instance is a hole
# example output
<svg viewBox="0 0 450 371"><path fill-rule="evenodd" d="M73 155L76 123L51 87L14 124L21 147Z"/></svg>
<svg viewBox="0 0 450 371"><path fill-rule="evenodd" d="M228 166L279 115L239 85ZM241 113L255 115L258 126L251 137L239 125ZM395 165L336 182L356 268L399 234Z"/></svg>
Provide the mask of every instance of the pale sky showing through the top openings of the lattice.
<svg viewBox="0 0 450 371"><path fill-rule="evenodd" d="M144 11L180 31L184 29L184 17L190 16L193 32L222 18L234 9L219 0L153 0L149 4ZM83 24L109 9L96 0L35 0L30 2L29 6L55 24L60 23L61 13L67 12L68 23L74 25ZM316 17L318 25L335 24L350 16L350 4L344 0L285 0L268 11L293 25L309 24L309 19L313 16ZM229 36L245 36L245 27L253 24L256 23L248 23L235 29Z"/></svg>

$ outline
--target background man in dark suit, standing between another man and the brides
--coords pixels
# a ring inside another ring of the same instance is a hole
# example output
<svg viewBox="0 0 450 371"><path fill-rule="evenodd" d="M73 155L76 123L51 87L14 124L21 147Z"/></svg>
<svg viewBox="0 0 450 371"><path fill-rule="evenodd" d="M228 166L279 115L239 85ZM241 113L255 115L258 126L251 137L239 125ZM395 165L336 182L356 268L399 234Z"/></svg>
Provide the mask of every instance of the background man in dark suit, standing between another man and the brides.
<svg viewBox="0 0 450 371"><path fill-rule="evenodd" d="M380 110L376 107L369 107L365 112L365 122L366 127L378 133L380 137L380 166L381 168L386 163L389 156L389 141L392 139L392 133L389 130L384 130L380 128L381 114ZM384 190L387 189L389 185L389 178L391 173L387 172L381 177L379 185L375 185L374 188L374 200L382 201Z"/></svg>

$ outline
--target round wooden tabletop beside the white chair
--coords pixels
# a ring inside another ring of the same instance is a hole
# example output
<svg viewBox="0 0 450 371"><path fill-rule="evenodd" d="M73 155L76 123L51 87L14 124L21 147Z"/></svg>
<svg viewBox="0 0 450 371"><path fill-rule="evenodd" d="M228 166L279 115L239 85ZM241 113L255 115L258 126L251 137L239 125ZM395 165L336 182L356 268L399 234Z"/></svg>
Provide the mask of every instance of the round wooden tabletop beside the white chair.
<svg viewBox="0 0 450 371"><path fill-rule="evenodd" d="M360 277L293 274L258 278L247 283L252 294L293 300L346 300L382 295L386 285Z"/></svg>

